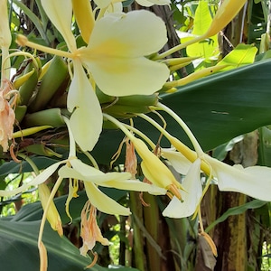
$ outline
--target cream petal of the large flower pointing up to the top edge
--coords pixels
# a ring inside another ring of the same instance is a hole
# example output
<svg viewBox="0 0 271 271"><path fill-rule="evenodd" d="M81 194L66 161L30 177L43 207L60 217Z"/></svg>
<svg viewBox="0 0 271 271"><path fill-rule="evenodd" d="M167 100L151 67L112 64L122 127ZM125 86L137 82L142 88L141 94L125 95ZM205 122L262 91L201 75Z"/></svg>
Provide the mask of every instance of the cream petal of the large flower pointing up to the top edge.
<svg viewBox="0 0 271 271"><path fill-rule="evenodd" d="M42 7L51 23L63 36L70 51L76 50L75 38L70 30L72 5L70 0L42 0Z"/></svg>

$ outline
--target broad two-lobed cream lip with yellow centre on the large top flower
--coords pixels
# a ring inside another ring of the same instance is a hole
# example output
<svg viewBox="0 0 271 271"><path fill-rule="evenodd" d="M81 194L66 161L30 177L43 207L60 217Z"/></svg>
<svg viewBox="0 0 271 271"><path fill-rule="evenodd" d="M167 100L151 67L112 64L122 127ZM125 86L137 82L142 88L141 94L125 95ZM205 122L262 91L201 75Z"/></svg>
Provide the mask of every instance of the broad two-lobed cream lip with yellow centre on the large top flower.
<svg viewBox="0 0 271 271"><path fill-rule="evenodd" d="M108 14L95 24L88 47L79 49L78 56L106 94L147 95L162 88L169 70L145 55L166 41L164 22L150 12Z"/></svg>

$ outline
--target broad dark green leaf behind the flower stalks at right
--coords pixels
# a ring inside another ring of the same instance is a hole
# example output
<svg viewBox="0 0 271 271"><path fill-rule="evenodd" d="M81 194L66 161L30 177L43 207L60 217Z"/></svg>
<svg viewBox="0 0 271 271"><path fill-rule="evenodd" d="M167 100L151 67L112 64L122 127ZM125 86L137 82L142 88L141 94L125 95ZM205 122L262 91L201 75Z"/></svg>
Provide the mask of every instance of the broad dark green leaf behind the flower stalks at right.
<svg viewBox="0 0 271 271"><path fill-rule="evenodd" d="M161 95L162 103L173 109L192 129L205 151L271 124L271 60L214 74ZM164 114L163 114L164 115ZM154 115L152 117L156 118ZM182 128L164 115L167 130L191 145ZM137 117L135 127L157 141L159 132ZM94 150L101 163L108 163L123 134L105 130ZM100 152L100 150L104 150Z"/></svg>

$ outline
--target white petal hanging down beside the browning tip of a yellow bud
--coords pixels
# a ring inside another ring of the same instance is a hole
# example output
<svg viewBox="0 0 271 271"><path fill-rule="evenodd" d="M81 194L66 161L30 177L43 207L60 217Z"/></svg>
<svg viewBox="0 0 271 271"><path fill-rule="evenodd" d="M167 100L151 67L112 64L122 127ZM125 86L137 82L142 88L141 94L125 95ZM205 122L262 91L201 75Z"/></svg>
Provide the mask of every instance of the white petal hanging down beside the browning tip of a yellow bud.
<svg viewBox="0 0 271 271"><path fill-rule="evenodd" d="M196 210L201 200L201 159L197 159L182 182L182 187L187 192L181 192L182 201L175 196L164 209L163 215L174 219L190 217Z"/></svg>

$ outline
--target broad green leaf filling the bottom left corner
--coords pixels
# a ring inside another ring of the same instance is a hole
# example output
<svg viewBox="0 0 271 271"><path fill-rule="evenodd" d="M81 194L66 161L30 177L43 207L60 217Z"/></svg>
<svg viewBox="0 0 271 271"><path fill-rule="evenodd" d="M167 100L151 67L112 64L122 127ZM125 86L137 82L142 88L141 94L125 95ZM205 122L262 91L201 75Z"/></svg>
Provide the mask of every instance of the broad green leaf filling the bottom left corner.
<svg viewBox="0 0 271 271"><path fill-rule="evenodd" d="M0 223L0 261L3 270L39 270L40 259L37 238L40 221ZM89 257L79 255L67 238L59 235L46 225L43 232L44 245L48 251L48 270L83 270L91 263ZM24 267L23 267L24 266ZM103 270L99 266L91 270Z"/></svg>

